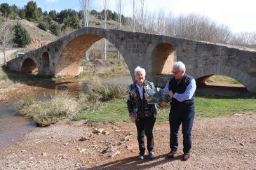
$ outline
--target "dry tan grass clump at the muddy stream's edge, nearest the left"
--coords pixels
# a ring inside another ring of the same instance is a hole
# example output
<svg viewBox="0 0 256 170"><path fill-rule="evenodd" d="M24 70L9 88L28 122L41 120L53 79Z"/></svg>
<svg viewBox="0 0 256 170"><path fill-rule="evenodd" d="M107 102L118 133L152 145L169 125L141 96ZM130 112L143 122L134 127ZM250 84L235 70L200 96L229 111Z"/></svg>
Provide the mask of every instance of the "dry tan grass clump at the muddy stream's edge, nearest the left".
<svg viewBox="0 0 256 170"><path fill-rule="evenodd" d="M33 119L39 126L51 125L79 111L79 103L66 91L59 92L50 99L40 100L28 97L18 108L20 115Z"/></svg>

